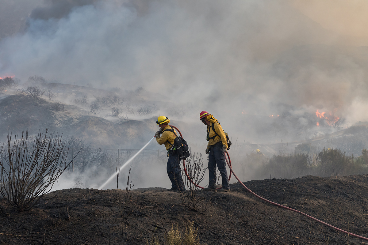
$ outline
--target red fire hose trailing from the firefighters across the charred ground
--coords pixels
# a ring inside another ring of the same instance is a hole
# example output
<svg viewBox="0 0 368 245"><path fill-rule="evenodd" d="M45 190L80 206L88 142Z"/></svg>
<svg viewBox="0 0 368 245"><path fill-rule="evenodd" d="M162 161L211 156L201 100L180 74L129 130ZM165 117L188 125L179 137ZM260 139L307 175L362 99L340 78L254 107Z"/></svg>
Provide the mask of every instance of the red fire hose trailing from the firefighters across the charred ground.
<svg viewBox="0 0 368 245"><path fill-rule="evenodd" d="M174 126L172 126L172 127L173 127L173 128L175 128L176 130L178 130L178 132L179 132L180 136L181 136L181 137L183 137L183 136L181 135L181 133L180 133L180 130L179 130L177 127L174 127ZM259 195L255 194L255 193L254 193L253 191L251 191L251 190L250 190L250 189L249 189L249 188L248 188L248 187L247 187L243 182L241 182L241 180L240 180L240 179L236 176L236 174L234 173L234 170L231 168L231 160L230 160L229 152L226 152L226 154L225 154L225 152L224 152L224 156L225 156L225 160L226 160L227 166L229 166L229 168L230 168L229 180L230 180L230 177L231 177L231 173L233 173L233 174L234 174L234 177L238 180L238 182L239 182L241 185L243 185L243 187L244 187L247 191L249 191L252 195L254 195L255 197L258 197L259 199L262 199L263 201L266 201L266 202L271 203L271 204L273 204L273 205L279 206L279 207L281 207L281 208L288 209L288 210L293 211L293 212L296 212L296 213L300 213L301 215L304 215L304 216L306 216L306 217L308 217L308 218L310 218L310 219L312 219L312 220L318 221L319 223L322 223L322 224L324 224L324 225L326 225L326 226L329 226L329 227L331 227L331 228L333 228L333 229L335 229L335 230L337 230L337 231L340 231L340 232L342 232L342 233L345 233L345 234L351 235L351 236L353 236L353 237L361 238L361 239L364 239L364 240L367 240L367 241L368 241L368 238L367 238L367 237L362 237L362 236L360 236L360 235L356 235L356 234L354 234L354 233L351 233L351 232L348 232L348 231L342 230L342 229L337 228L337 227L335 227L335 226L332 226L332 225L330 225L330 224L328 224L328 223L326 223L326 222L323 222L322 220L319 220L319 219L316 219L315 217L312 217L312 216L310 216L310 215L307 215L306 213L303 213L303 212L301 212L301 211L299 211L299 210L296 210L296 209L293 209L293 208L289 208L289 207L287 207L287 206L281 205L281 204L276 203L276 202L272 202L272 201L270 201L270 200L268 200L268 199L266 199L266 198L263 198L263 197L261 197L261 196L259 196ZM227 157L226 157L226 156L227 156ZM228 160L228 159L229 159L229 160ZM183 168L184 168L185 175L186 175L186 176L187 176L187 178L191 181L191 183L192 183L192 184L194 184L195 186L199 187L199 188L204 189L204 187L201 187L201 186L199 186L198 184L194 183L194 182L191 180L191 178L188 176L187 169L186 169L186 167L185 167L185 160L184 160L184 159L183 159Z"/></svg>

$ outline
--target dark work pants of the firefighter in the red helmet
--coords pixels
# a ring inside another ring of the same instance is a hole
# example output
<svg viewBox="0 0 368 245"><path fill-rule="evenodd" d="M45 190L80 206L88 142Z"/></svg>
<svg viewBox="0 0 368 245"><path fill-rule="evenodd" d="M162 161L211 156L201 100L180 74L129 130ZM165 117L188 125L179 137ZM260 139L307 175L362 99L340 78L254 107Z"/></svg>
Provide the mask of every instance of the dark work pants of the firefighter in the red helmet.
<svg viewBox="0 0 368 245"><path fill-rule="evenodd" d="M217 144L211 147L208 156L208 171L209 171L209 187L216 187L216 165L219 168L222 177L222 187L230 189L229 179L227 178L226 160L222 153L222 144Z"/></svg>

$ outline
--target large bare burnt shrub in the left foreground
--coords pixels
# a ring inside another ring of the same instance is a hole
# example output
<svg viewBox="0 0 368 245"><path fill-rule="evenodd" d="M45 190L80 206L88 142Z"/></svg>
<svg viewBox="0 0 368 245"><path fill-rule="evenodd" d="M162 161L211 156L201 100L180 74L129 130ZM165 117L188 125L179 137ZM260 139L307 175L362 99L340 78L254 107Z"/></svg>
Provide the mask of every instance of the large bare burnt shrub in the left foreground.
<svg viewBox="0 0 368 245"><path fill-rule="evenodd" d="M18 211L28 211L50 192L67 169L68 150L62 136L39 132L33 139L28 130L22 137L7 135L0 150L0 193Z"/></svg>

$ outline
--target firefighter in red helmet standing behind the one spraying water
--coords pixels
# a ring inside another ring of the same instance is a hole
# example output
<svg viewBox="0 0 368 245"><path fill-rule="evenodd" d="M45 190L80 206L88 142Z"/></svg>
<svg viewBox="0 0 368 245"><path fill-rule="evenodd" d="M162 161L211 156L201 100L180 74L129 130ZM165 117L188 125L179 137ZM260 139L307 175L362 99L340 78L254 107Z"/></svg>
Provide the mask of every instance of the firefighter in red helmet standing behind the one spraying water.
<svg viewBox="0 0 368 245"><path fill-rule="evenodd" d="M206 154L208 156L209 184L205 191L216 191L216 166L222 177L222 188L218 191L230 191L229 179L226 171L224 153L227 151L227 141L224 130L219 121L206 111L199 114L199 119L207 125Z"/></svg>

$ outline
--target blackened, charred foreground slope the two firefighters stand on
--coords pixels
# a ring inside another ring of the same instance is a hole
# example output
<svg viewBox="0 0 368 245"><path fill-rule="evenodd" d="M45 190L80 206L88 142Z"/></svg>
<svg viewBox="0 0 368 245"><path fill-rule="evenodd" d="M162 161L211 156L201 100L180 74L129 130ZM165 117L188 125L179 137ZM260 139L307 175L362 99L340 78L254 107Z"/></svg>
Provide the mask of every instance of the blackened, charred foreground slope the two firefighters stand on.
<svg viewBox="0 0 368 245"><path fill-rule="evenodd" d="M351 233L368 236L368 175L245 182L264 198L307 213ZM47 194L29 212L15 212L1 200L0 244L145 244L163 240L172 225L193 221L200 243L366 244L296 212L261 201L239 183L231 192L206 197L203 214L183 206L178 192L164 188L132 190L66 189ZM202 192L199 193L199 195ZM53 199L51 197L55 196ZM212 197L212 198L210 198ZM118 201L123 219L119 219Z"/></svg>

